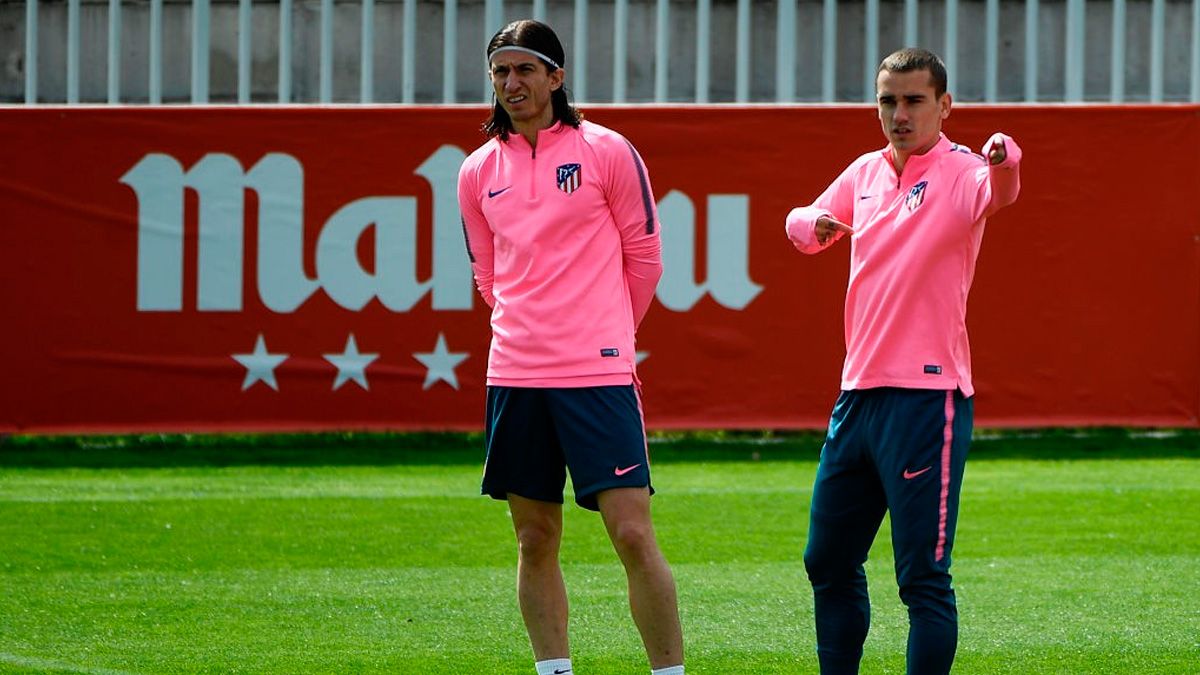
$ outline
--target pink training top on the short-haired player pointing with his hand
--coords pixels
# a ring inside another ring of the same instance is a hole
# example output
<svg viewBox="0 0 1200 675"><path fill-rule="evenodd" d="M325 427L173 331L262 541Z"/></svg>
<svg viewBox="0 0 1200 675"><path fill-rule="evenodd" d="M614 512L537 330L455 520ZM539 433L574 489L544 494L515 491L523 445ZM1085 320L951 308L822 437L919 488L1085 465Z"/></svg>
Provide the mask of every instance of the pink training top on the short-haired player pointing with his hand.
<svg viewBox="0 0 1200 675"><path fill-rule="evenodd" d="M787 214L787 237L816 253L816 222L854 228L846 291L846 363L841 388L905 387L974 394L967 342L967 294L988 216L1016 201L1021 149L992 135L1008 156L996 166L943 135L896 175L889 149L846 167L811 207Z"/></svg>

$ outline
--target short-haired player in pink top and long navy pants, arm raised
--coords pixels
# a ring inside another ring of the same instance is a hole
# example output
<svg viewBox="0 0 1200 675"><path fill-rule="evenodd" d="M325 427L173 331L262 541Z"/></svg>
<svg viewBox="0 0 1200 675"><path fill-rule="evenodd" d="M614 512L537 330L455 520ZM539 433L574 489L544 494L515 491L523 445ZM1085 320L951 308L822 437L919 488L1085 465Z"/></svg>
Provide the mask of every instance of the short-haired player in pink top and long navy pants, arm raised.
<svg viewBox="0 0 1200 675"><path fill-rule="evenodd" d="M850 239L846 362L821 450L804 566L823 675L858 673L870 626L863 563L884 512L910 675L949 673L958 644L950 551L974 387L966 301L988 216L1020 190L1021 150L995 133L983 156L942 135L946 66L925 49L883 59L887 148L854 160L787 215L805 253Z"/></svg>

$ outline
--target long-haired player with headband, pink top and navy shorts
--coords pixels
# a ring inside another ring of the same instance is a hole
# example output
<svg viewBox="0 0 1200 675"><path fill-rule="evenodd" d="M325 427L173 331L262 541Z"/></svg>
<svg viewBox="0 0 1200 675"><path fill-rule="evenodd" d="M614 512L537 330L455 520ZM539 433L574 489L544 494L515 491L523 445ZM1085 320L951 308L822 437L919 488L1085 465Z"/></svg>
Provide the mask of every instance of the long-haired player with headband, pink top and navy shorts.
<svg viewBox="0 0 1200 675"><path fill-rule="evenodd" d="M558 549L563 488L599 510L629 579L652 673L682 675L674 580L650 522L634 333L662 274L646 165L583 121L550 26L518 20L487 44L490 137L463 162L458 204L492 307L481 491L506 500L517 598L539 675L571 673Z"/></svg>

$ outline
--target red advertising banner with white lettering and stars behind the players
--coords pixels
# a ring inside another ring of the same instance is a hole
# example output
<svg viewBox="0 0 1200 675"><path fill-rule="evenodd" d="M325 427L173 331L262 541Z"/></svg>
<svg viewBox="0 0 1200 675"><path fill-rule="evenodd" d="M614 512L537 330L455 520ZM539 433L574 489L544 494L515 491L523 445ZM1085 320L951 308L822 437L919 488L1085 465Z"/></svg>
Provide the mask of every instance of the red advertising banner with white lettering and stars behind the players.
<svg viewBox="0 0 1200 675"><path fill-rule="evenodd" d="M650 171L650 428L820 428L845 246L784 217L869 107L605 107ZM0 109L0 432L479 429L490 329L455 177L485 112ZM980 426L1200 425L1200 108L970 107L1025 150L968 324Z"/></svg>

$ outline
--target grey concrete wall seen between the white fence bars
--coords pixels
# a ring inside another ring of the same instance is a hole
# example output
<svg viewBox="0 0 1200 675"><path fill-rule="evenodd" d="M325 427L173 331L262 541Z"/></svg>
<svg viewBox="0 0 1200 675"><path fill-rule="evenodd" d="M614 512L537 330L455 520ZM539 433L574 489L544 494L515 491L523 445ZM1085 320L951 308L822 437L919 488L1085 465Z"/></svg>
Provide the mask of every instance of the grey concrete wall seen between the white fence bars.
<svg viewBox="0 0 1200 675"><path fill-rule="evenodd" d="M1200 0L1198 0L1200 1ZM655 2L630 0L629 4L628 101L652 101L654 97ZM709 98L714 102L734 98L736 11L734 0L713 0L712 59ZM556 26L568 53L568 86L576 73L572 68L574 1L547 2L547 23ZM959 101L979 101L984 95L984 2L962 1L959 7L958 54L942 54L956 71ZM400 0L376 2L374 100L401 100L401 47L403 16ZM1151 2L1127 4L1127 53L1124 64L1126 100L1150 97L1150 26ZM532 13L532 2L505 2L506 19ZM277 2L256 2L252 20L252 97L256 102L277 100L278 73ZM1192 2L1168 1L1164 54L1164 98L1183 101L1190 96ZM296 0L293 6L293 97L295 102L318 98L319 88L319 13L318 0ZM149 4L126 1L122 5L121 100L145 102L149 73ZM355 1L338 1L334 12L335 76L334 100L359 100L359 62L361 8ZM588 98L594 102L612 97L612 22L611 0L593 0L589 5ZM751 85L752 101L775 100L776 2L752 2L751 10ZM839 4L838 82L839 101L862 101L864 88L863 2ZM1063 42L1066 2L1043 2L1038 44L1038 98L1062 100L1064 91ZM1111 2L1087 4L1087 41L1085 97L1106 101L1110 90ZM0 102L24 101L25 2L0 0ZM944 48L944 2L920 4L920 42L942 53ZM796 100L821 100L822 2L797 2ZM1020 101L1025 96L1025 2L1002 0L1000 14L1000 100ZM494 29L484 30L484 2L458 2L457 77L458 102L482 101L486 92L482 49ZM40 2L38 25L38 100L66 100L67 5L64 0ZM191 2L164 0L163 8L163 88L164 102L186 102L191 92ZM83 0L80 13L80 100L107 100L107 0ZM238 91L238 4L212 0L210 52L210 101L235 101ZM418 2L415 100L442 102L443 2ZM902 46L904 2L884 1L880 8L878 54L882 56ZM670 36L671 101L695 100L696 13L695 2L671 2Z"/></svg>

